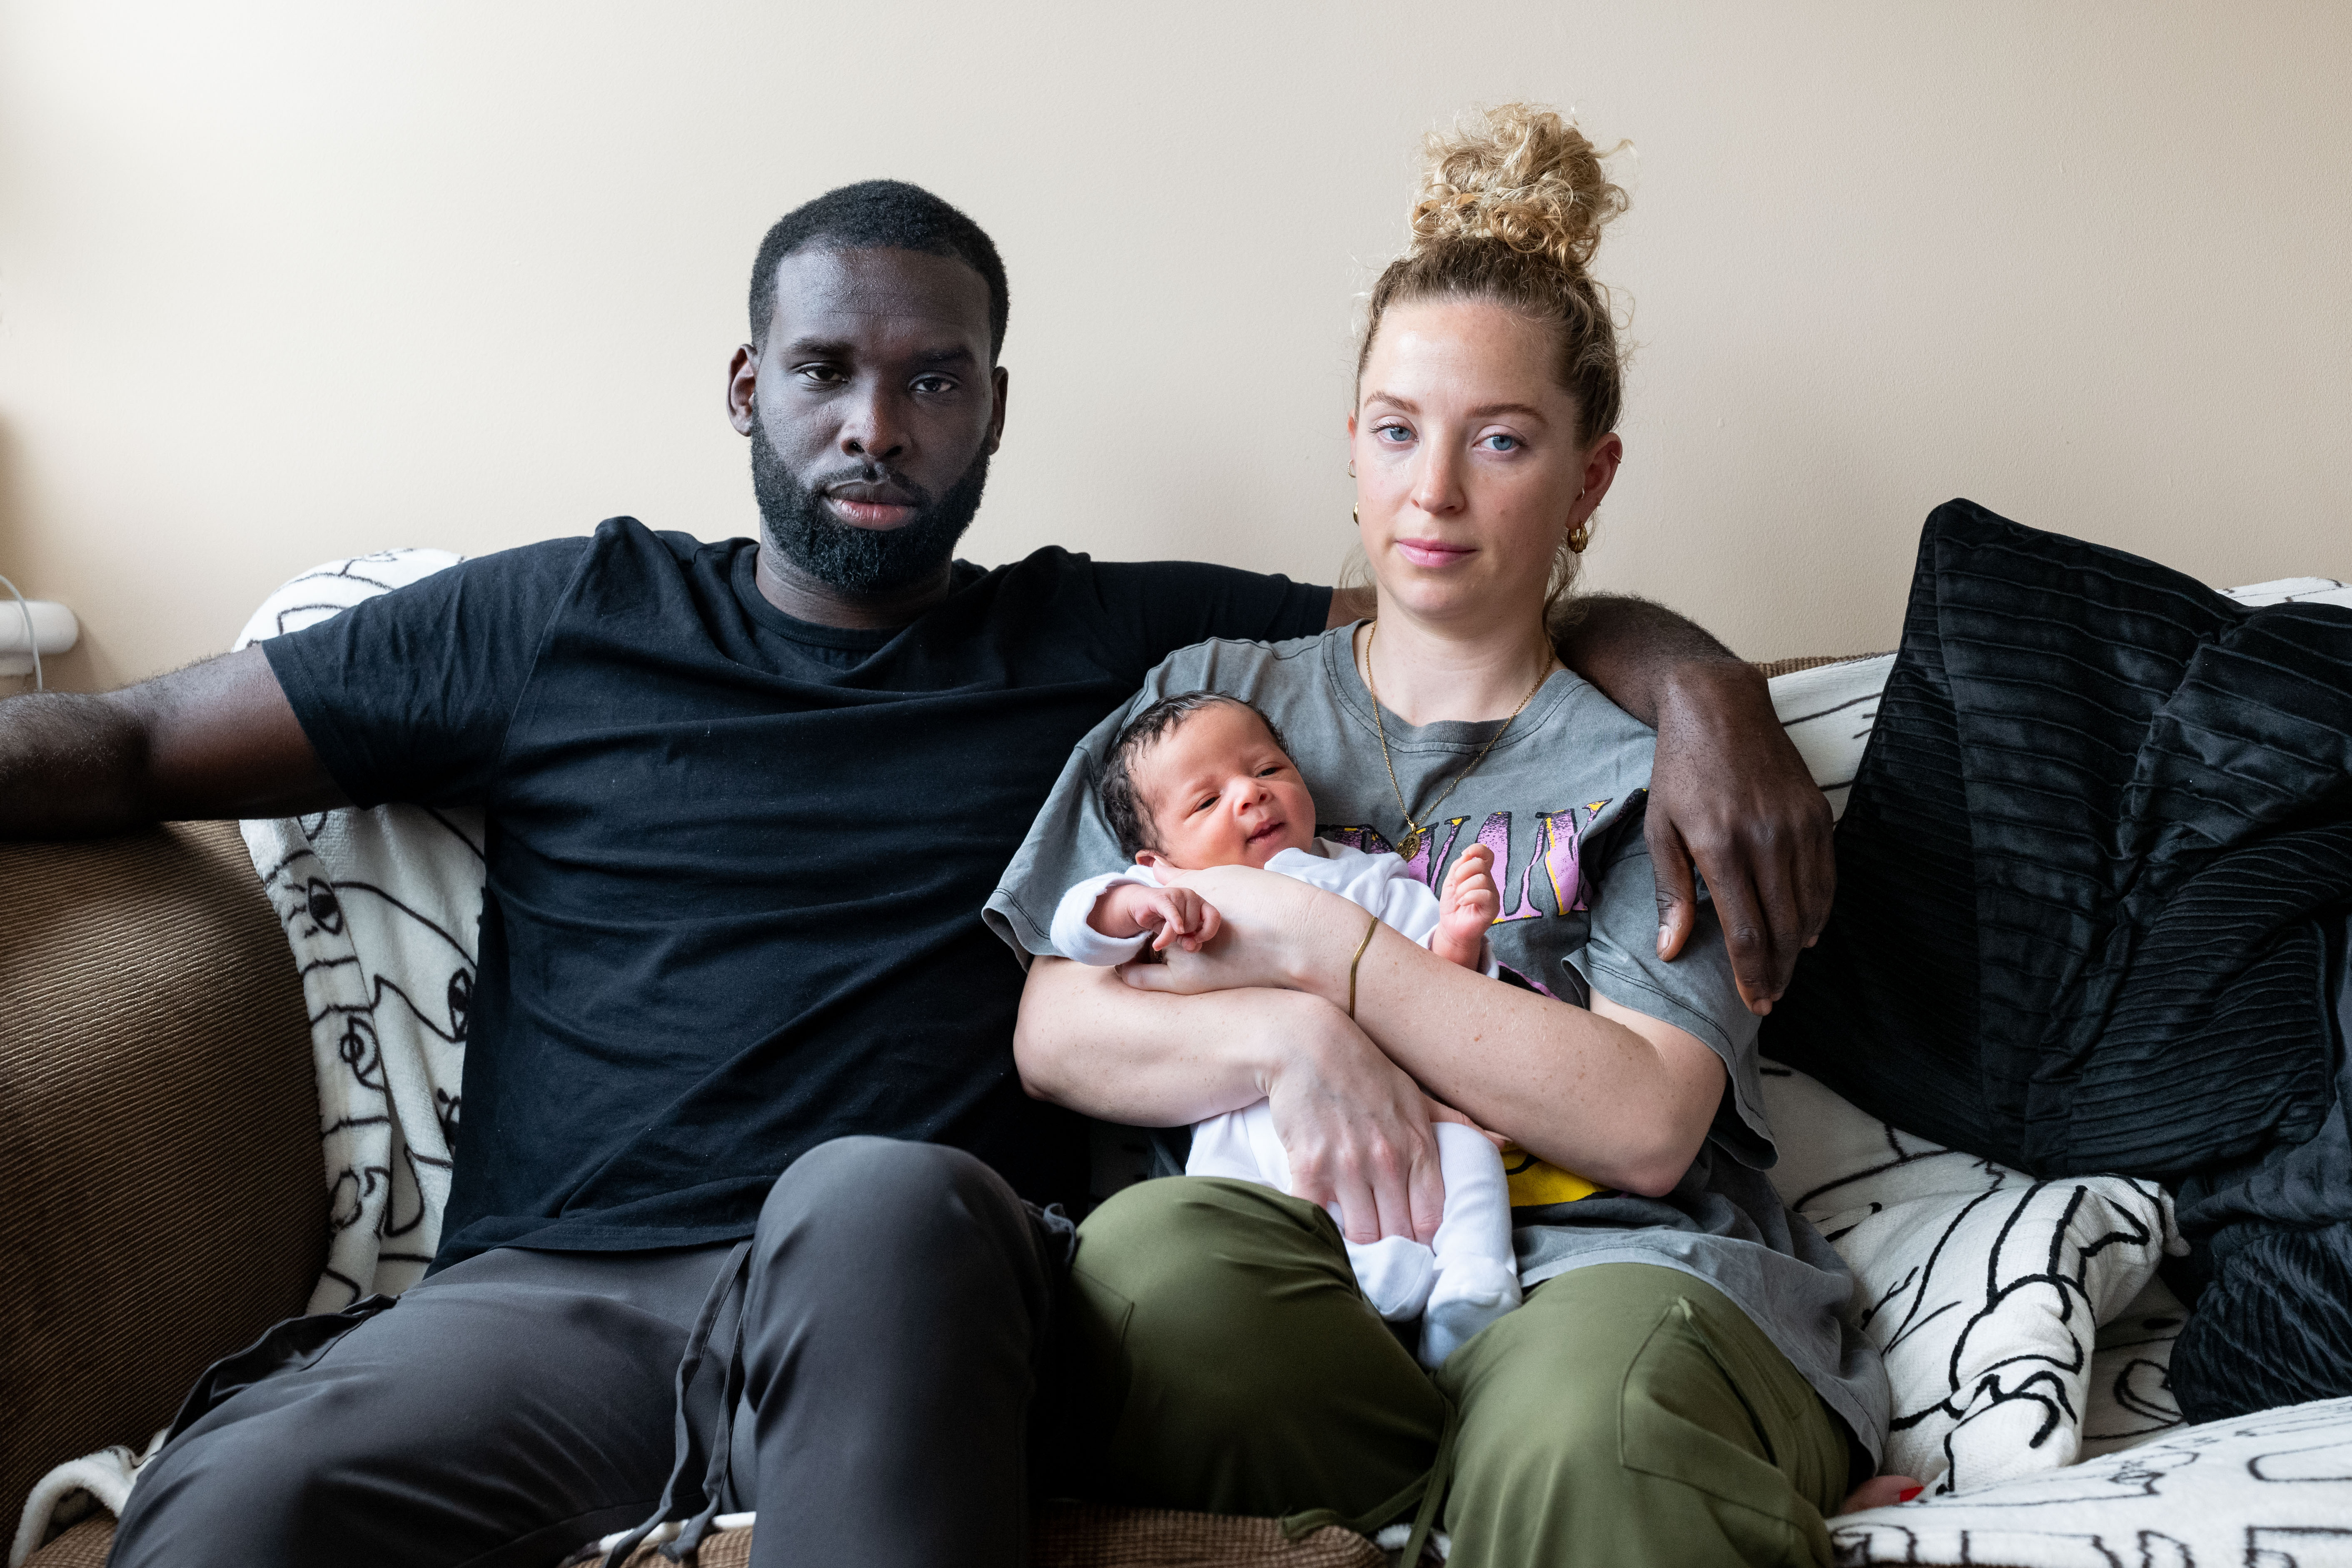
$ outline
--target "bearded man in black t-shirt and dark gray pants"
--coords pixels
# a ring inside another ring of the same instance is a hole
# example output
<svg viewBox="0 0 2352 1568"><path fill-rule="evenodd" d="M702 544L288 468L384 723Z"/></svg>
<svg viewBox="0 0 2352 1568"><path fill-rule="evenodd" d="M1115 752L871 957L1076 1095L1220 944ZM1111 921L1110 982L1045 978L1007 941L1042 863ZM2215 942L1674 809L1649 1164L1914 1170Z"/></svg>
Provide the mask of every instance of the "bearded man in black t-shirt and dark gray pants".
<svg viewBox="0 0 2352 1568"><path fill-rule="evenodd" d="M543 1566L720 1507L762 1512L762 1566L1025 1561L1068 1251L1040 1204L1084 1192L1084 1143L1021 1093L1021 971L981 905L1164 654L1362 607L1197 564L953 562L1004 322L964 214L835 190L769 230L729 371L757 545L612 520L0 705L16 837L489 813L435 1267L214 1366L115 1563ZM1658 863L1698 849L1769 1004L1825 914L1828 813L1762 682L1637 602L1597 602L1566 654L1658 722Z"/></svg>

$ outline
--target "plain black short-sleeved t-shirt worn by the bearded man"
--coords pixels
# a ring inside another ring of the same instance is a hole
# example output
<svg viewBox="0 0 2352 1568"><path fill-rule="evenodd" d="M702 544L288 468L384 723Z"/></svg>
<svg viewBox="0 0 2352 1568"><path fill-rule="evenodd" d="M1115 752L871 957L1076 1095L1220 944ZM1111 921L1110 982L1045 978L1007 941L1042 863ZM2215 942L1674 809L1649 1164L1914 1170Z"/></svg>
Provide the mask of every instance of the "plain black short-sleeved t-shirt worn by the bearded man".
<svg viewBox="0 0 2352 1568"><path fill-rule="evenodd" d="M1329 611L1287 578L1040 550L854 632L776 611L753 562L616 517L261 644L353 802L489 813L435 1267L746 1237L844 1133L1082 1194L1077 1121L1021 1093L1021 971L981 905L1162 656Z"/></svg>

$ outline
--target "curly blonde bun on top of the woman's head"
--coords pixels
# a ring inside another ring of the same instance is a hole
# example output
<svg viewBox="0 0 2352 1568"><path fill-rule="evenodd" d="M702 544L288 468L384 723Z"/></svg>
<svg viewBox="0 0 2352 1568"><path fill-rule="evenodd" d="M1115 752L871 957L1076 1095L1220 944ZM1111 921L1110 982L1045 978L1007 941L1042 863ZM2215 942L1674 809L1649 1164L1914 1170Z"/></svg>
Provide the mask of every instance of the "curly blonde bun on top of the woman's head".
<svg viewBox="0 0 2352 1568"><path fill-rule="evenodd" d="M1625 190L1602 167L1604 153L1571 120L1536 103L1465 115L1454 132L1430 132L1425 146L1428 167L1409 219L1414 254L1494 240L1581 273L1599 249L1602 226L1625 212Z"/></svg>

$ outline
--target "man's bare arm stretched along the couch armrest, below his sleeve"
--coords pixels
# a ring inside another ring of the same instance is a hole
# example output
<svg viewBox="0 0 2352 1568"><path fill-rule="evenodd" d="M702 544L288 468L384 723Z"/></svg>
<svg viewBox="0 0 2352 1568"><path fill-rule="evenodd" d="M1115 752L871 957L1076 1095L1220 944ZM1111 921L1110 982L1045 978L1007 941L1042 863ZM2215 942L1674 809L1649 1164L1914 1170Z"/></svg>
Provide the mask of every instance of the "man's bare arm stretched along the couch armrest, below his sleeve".
<svg viewBox="0 0 2352 1568"><path fill-rule="evenodd" d="M103 696L0 703L0 839L348 804L261 649Z"/></svg>

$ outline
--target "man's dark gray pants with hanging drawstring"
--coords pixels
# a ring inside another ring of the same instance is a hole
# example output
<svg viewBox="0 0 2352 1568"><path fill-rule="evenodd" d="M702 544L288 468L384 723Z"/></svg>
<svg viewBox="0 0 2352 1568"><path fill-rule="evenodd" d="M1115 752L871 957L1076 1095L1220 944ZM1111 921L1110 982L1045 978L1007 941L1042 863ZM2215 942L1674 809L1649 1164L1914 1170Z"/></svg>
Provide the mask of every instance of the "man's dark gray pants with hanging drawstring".
<svg viewBox="0 0 2352 1568"><path fill-rule="evenodd" d="M642 1523L729 1253L503 1248L343 1333L282 1324L214 1368L245 1387L146 1467L111 1563L548 1568ZM1061 1267L1063 1237L957 1150L842 1138L793 1164L741 1298L729 1507L760 1509L755 1568L1021 1568Z"/></svg>

